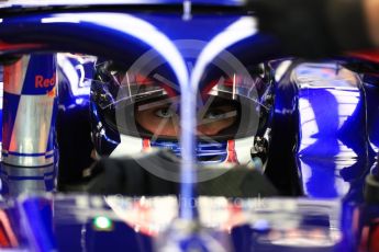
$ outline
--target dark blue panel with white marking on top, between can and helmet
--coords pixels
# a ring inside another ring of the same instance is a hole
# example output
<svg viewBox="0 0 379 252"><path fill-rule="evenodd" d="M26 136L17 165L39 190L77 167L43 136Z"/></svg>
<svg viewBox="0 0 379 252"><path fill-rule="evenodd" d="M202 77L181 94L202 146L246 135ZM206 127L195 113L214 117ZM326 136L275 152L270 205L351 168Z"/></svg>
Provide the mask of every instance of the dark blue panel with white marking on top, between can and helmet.
<svg viewBox="0 0 379 252"><path fill-rule="evenodd" d="M89 94L93 78L93 59L59 54L57 141L59 146L59 186L77 183L83 169L91 165ZM71 122L77 122L75 125Z"/></svg>

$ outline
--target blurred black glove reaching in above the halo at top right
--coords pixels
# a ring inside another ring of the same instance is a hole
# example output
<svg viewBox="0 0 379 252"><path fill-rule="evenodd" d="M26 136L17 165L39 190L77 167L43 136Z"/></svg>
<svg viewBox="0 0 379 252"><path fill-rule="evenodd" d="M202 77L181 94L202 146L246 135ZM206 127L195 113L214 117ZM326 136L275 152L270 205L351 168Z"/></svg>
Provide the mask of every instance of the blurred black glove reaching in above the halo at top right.
<svg viewBox="0 0 379 252"><path fill-rule="evenodd" d="M363 0L248 0L263 33L282 43L286 54L305 58L371 48Z"/></svg>

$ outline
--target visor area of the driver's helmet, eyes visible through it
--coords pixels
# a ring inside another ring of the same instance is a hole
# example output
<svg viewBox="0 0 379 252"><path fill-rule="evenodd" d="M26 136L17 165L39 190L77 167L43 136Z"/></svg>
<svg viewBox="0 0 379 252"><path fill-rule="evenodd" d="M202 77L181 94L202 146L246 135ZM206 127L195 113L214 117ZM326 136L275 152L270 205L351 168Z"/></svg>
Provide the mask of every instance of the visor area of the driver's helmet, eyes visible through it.
<svg viewBox="0 0 379 252"><path fill-rule="evenodd" d="M93 81L102 89L105 122L124 135L149 139L177 139L180 135L179 87L155 73L153 77L120 75L110 78L112 84ZM234 75L202 84L198 98L197 135L201 138L238 138L254 136L260 110L256 85L261 80Z"/></svg>

